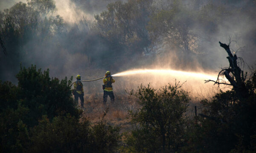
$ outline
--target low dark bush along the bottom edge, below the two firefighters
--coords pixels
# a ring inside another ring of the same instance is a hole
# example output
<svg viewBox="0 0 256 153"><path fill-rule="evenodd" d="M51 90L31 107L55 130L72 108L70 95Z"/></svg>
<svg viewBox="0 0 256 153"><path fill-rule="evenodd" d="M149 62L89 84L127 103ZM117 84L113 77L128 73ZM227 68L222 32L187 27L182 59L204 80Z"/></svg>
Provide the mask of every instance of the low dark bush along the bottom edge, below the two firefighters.
<svg viewBox="0 0 256 153"><path fill-rule="evenodd" d="M79 122L73 116L58 116L52 122L44 117L33 128L31 153L113 153L119 141L119 128L89 120Z"/></svg>

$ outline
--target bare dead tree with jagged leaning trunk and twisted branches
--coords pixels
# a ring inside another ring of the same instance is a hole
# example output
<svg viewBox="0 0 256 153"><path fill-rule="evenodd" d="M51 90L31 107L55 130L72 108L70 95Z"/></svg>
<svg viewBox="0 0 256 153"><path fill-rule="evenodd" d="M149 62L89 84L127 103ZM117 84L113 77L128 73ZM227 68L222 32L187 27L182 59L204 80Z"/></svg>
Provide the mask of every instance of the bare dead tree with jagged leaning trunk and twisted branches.
<svg viewBox="0 0 256 153"><path fill-rule="evenodd" d="M239 57L236 56L236 54L232 54L230 51L230 43L228 45L223 44L219 42L221 47L224 48L228 54L228 61L230 63L230 66L228 68L223 68L217 77L217 80L205 80L205 83L207 82L214 82L215 84L225 84L225 85L231 85L233 86L234 91L238 95L239 98L245 98L248 94L248 90L245 86L245 79L246 75L244 75L244 71L241 70L241 68L238 65L237 60L240 59L242 62L243 60ZM241 66L241 65L240 65ZM220 82L219 77L220 76L225 76L227 80L230 83L225 83L225 82Z"/></svg>

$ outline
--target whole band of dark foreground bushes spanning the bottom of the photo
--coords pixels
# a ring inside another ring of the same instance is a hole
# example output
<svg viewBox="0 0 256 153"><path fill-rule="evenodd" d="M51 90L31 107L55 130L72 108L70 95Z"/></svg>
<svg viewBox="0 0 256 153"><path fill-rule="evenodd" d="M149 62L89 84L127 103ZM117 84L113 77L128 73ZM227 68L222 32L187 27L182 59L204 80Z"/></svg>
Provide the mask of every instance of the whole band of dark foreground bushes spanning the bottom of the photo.
<svg viewBox="0 0 256 153"><path fill-rule="evenodd" d="M101 120L91 125L71 97L67 78L49 70L20 68L18 85L0 83L1 152L184 152L256 151L256 72L247 79L247 96L221 91L201 103L201 116L184 118L189 94L178 84L159 90L140 86L131 95L141 108L130 111L134 128L123 137L119 127Z"/></svg>

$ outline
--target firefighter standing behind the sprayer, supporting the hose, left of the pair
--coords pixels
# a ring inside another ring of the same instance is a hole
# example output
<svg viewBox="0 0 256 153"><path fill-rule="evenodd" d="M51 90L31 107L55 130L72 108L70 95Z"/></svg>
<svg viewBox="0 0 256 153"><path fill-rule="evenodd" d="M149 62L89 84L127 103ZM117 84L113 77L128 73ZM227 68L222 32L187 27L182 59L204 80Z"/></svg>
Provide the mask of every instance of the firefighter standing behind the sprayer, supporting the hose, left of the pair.
<svg viewBox="0 0 256 153"><path fill-rule="evenodd" d="M80 75L76 76L76 82L74 83L74 90L72 93L75 96L75 102L78 104L79 97L81 101L81 108L84 108L84 89Z"/></svg>

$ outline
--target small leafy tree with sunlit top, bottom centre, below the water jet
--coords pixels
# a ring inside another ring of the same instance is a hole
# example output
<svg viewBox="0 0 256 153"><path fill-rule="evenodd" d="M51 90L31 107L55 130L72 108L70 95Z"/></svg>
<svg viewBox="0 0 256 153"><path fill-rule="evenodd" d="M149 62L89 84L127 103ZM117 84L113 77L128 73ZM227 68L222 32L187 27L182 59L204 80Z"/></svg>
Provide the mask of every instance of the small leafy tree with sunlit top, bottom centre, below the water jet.
<svg viewBox="0 0 256 153"><path fill-rule="evenodd" d="M181 85L161 88L140 86L137 93L142 106L139 111L131 111L131 118L138 126L128 136L129 150L136 152L158 152L178 150L183 143L183 113L189 102L189 95ZM160 142L160 143L157 143Z"/></svg>

